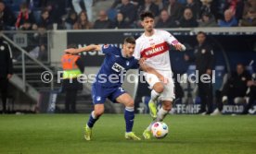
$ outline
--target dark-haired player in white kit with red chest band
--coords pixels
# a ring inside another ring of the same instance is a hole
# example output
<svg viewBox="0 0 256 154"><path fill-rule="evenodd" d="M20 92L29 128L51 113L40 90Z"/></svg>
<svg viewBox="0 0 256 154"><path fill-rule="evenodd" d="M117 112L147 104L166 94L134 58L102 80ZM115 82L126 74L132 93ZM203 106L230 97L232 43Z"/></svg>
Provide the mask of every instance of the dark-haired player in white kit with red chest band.
<svg viewBox="0 0 256 154"><path fill-rule="evenodd" d="M175 99L169 47L173 45L179 51L186 49L168 31L154 29L154 15L151 12L142 13L140 19L145 31L136 40L134 57L136 59L146 58L145 64L158 72L158 75L144 72L149 88L152 89L148 107L153 118L151 124L153 124L156 121L162 121L165 115L172 110L173 100ZM162 102L162 106L157 113L156 103L158 99ZM146 139L150 138L151 124L143 133Z"/></svg>

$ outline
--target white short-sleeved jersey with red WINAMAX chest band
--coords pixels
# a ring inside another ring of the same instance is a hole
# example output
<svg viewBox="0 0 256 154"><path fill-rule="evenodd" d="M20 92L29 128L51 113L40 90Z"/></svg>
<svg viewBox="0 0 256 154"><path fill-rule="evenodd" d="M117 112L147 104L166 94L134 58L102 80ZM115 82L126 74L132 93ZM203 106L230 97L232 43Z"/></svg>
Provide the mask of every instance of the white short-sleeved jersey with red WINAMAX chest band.
<svg viewBox="0 0 256 154"><path fill-rule="evenodd" d="M154 30L154 34L147 37L143 33L137 40L134 57L146 57L146 64L156 70L171 71L169 46L178 41L165 30Z"/></svg>

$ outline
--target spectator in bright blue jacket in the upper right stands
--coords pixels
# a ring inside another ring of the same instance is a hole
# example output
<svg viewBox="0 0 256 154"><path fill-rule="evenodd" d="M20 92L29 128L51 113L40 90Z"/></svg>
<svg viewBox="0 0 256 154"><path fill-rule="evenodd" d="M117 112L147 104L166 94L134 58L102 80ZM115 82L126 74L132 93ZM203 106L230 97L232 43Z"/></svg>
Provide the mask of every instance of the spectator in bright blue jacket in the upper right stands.
<svg viewBox="0 0 256 154"><path fill-rule="evenodd" d="M235 18L232 10L227 9L224 11L224 20L219 20L220 27L236 27L238 25L237 18Z"/></svg>

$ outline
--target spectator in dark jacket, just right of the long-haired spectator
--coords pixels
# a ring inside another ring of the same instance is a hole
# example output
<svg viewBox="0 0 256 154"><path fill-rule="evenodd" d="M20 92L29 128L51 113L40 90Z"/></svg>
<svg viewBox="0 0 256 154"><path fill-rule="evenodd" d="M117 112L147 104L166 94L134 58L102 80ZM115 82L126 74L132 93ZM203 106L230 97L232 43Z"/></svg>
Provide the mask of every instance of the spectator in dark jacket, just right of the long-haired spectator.
<svg viewBox="0 0 256 154"><path fill-rule="evenodd" d="M96 19L94 29L110 29L111 21L109 20L105 10L100 10L98 13L98 19Z"/></svg>

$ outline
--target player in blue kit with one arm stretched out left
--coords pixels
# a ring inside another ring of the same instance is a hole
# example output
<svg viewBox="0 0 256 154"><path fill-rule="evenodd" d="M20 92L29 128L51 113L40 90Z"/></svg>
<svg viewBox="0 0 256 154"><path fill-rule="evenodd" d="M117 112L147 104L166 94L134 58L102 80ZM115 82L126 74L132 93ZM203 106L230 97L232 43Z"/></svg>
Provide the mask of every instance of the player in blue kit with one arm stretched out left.
<svg viewBox="0 0 256 154"><path fill-rule="evenodd" d="M67 49L66 53L81 53L89 51L102 51L106 57L100 67L96 80L92 86L92 97L94 102L94 111L91 113L87 124L84 127L84 138L91 140L92 128L98 118L104 113L104 102L108 98L110 101L122 103L125 106L124 119L126 123L125 138L140 140L132 132L134 125L134 100L122 89L122 75L128 69L136 69L139 66L147 72L155 73L154 69L143 65L143 59L140 61L134 59L135 40L133 37L124 39L122 49L110 44L106 45L88 45L79 49ZM114 76L115 75L115 76ZM111 80L116 78L116 80Z"/></svg>

